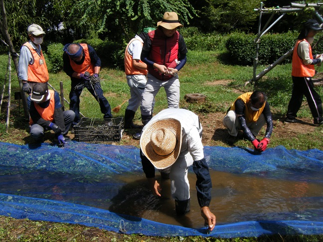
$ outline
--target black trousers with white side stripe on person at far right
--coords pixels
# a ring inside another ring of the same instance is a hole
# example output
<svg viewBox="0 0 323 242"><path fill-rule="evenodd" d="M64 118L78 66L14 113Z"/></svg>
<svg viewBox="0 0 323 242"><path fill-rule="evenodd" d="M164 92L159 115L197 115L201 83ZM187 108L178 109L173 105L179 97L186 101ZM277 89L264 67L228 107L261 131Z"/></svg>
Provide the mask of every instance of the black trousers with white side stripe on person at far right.
<svg viewBox="0 0 323 242"><path fill-rule="evenodd" d="M292 77L293 91L292 98L288 105L287 118L296 118L300 110L303 96L306 97L314 120L319 121L322 117L322 100L320 95L314 90L311 77Z"/></svg>

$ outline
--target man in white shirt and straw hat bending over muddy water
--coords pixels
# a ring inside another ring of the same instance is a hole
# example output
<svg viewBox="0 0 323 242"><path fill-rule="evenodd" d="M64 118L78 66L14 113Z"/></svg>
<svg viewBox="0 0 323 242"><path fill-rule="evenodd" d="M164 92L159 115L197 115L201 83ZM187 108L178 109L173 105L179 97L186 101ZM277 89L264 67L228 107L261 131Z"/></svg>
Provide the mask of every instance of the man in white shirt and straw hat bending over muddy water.
<svg viewBox="0 0 323 242"><path fill-rule="evenodd" d="M185 109L165 109L143 128L140 156L149 187L155 196L161 197L162 190L155 178L155 167L162 175L169 173L171 197L175 200L177 215L190 211L187 170L193 165L201 216L212 231L216 219L208 208L212 183L201 138L202 126L197 115Z"/></svg>

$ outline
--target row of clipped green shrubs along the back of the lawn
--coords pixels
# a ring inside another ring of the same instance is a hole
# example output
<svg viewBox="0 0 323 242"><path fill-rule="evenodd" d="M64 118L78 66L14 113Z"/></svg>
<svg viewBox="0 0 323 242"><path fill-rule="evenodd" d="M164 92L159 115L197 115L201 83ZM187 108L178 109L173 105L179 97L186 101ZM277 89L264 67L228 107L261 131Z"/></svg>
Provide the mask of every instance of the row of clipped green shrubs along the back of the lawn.
<svg viewBox="0 0 323 242"><path fill-rule="evenodd" d="M188 50L221 51L230 55L230 63L252 65L256 55L255 34L234 32L228 35L218 33L201 33L195 27L180 28ZM258 64L271 64L294 47L299 33L264 34L259 41ZM317 34L313 43L313 53L323 53L323 41L319 41L323 33ZM126 41L113 42L99 38L80 39L76 43L88 43L98 53L103 65L124 69L124 51ZM50 72L57 73L63 68L63 45L53 43L47 46L46 61ZM285 60L291 62L291 56Z"/></svg>

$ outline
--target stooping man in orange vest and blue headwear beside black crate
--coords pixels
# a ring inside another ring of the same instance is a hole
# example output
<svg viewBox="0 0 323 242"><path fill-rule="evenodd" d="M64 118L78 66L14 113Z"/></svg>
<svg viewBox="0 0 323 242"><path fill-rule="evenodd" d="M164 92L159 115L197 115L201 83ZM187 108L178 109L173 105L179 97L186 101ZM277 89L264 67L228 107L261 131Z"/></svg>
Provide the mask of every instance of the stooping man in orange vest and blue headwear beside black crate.
<svg viewBox="0 0 323 242"><path fill-rule="evenodd" d="M73 126L80 121L80 95L83 88L87 88L92 96L99 102L103 118L112 118L111 107L108 100L103 96L99 73L101 59L89 44L72 43L64 46L63 63L64 72L71 77L70 110L75 113ZM88 75L87 75L88 74ZM90 76L95 83L90 82Z"/></svg>

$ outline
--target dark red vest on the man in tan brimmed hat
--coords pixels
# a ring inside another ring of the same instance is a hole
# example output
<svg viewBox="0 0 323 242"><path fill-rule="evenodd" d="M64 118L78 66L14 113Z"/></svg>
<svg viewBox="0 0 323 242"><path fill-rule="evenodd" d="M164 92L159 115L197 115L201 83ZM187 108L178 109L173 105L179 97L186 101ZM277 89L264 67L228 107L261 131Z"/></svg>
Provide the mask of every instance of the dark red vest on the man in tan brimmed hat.
<svg viewBox="0 0 323 242"><path fill-rule="evenodd" d="M166 37L162 30L156 29L149 32L148 36L152 41L149 58L157 64L175 68L177 66L175 59L178 59L179 32L176 31L171 37ZM148 67L148 72L162 81L167 81L172 78L172 76L165 76L159 73L152 66Z"/></svg>

